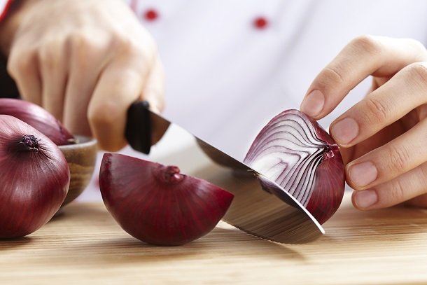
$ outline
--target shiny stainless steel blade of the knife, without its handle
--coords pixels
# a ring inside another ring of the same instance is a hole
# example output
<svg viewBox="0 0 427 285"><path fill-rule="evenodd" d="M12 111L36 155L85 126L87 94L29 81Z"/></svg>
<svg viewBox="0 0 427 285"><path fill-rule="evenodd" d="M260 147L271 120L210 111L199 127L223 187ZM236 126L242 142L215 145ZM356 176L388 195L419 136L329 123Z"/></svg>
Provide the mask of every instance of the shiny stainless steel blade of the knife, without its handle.
<svg viewBox="0 0 427 285"><path fill-rule="evenodd" d="M174 155L162 155L154 146L150 155L155 162L177 165L181 172L207 180L235 195L224 221L251 235L287 244L311 242L324 234L307 209L277 183L157 113L150 111L149 117L152 126L169 126L160 144L173 146L176 138L190 141L190 145Z"/></svg>

